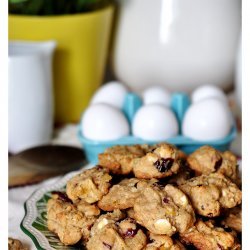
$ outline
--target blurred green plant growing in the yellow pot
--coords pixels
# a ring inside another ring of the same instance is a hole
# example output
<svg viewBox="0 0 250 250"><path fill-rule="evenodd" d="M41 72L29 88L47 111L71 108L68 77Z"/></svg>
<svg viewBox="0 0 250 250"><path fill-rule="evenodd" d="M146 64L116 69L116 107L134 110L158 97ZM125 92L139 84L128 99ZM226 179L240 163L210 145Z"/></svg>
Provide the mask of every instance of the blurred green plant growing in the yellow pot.
<svg viewBox="0 0 250 250"><path fill-rule="evenodd" d="M93 11L112 0L9 0L9 13L20 15L63 15Z"/></svg>

